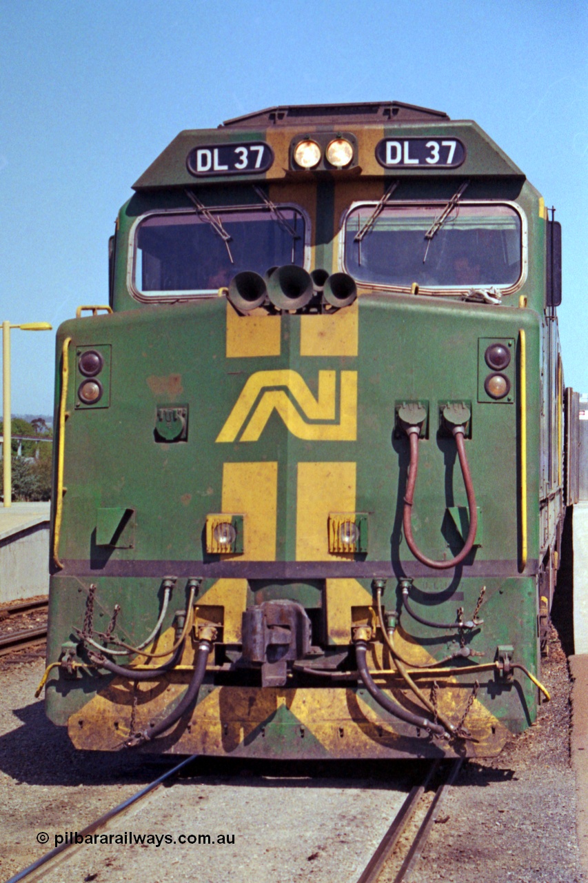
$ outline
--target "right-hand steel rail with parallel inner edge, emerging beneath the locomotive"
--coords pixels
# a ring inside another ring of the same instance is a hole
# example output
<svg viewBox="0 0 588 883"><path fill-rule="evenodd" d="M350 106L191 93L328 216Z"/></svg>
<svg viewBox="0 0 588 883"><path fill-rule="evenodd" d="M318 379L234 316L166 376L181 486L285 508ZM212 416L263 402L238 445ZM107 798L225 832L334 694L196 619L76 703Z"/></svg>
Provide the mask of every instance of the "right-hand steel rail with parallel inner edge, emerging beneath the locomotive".
<svg viewBox="0 0 588 883"><path fill-rule="evenodd" d="M411 788L408 796L404 800L403 805L396 813L395 819L389 826L388 831L382 837L377 849L373 853L373 856L370 858L369 862L366 864L364 871L359 876L357 883L376 883L376 880L380 876L383 865L392 855L394 849L396 849L397 842L399 841L406 826L409 824L415 811L417 810L420 799L428 788L431 780L433 779L433 776L437 773L440 763L440 760L434 760L429 767L422 784L415 785L413 786L413 788ZM406 857L403 860L400 871L396 874L396 877L394 878L394 883L403 883L403 881L405 881L405 883L408 883L408 878L406 877L406 875L412 871L414 865L417 863L418 857L420 857L422 849L425 846L426 839L430 834L431 827L433 826L433 822L441 806L441 801L443 797L447 795L450 786L456 780L456 775L459 773L462 764L463 759L458 758L453 766L451 766L446 781L441 785L439 789L437 789L435 795L433 796L433 801L429 806L428 811L426 812L425 819L423 819L421 825L418 828L418 832L414 837L414 840L411 842L411 846Z"/></svg>

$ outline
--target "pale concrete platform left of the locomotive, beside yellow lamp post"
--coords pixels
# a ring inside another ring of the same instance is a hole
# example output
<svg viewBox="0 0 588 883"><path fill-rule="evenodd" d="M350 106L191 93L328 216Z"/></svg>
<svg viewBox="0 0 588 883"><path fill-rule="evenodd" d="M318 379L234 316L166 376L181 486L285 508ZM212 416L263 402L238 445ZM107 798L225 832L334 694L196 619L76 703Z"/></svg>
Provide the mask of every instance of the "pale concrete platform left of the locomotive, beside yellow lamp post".
<svg viewBox="0 0 588 883"><path fill-rule="evenodd" d="M0 604L49 592L49 502L0 508Z"/></svg>

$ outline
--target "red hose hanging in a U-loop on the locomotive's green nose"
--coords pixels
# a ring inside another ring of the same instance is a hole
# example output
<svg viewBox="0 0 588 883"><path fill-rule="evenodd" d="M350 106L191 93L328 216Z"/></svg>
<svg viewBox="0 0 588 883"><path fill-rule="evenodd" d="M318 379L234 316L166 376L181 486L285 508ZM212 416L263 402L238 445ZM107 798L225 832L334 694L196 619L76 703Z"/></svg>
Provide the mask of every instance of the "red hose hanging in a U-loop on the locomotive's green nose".
<svg viewBox="0 0 588 883"><path fill-rule="evenodd" d="M465 493L467 494L468 507L470 509L470 531L468 532L467 540L465 540L464 548L459 553L459 555L456 555L456 557L452 558L450 561L433 561L432 558L427 558L426 555L423 555L423 553L420 551L417 544L415 543L414 537L412 536L412 501L414 499L414 488L417 483L419 427L409 426L406 430L409 439L411 440L411 463L409 464L408 479L406 481L406 493L404 494L404 537L406 539L408 547L411 550L412 555L414 555L415 558L418 558L418 561L426 564L427 567L434 568L434 570L449 570L450 567L456 567L456 564L460 564L461 562L463 562L464 558L471 552L471 547L474 544L476 531L478 529L478 509L476 507L476 494L474 494L473 484L471 482L471 473L470 467L468 465L468 459L465 456L464 426L453 426L451 431L456 440L457 456L459 457L459 464L462 467L462 475L464 476Z"/></svg>

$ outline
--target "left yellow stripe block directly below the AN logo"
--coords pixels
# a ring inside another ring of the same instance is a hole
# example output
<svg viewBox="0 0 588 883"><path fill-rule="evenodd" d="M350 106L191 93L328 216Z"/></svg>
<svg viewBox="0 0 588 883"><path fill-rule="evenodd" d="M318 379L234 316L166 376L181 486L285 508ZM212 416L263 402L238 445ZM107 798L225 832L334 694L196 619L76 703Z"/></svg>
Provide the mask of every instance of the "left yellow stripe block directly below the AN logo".
<svg viewBox="0 0 588 883"><path fill-rule="evenodd" d="M277 463L225 463L222 466L222 510L245 515L243 555L239 561L275 561Z"/></svg>

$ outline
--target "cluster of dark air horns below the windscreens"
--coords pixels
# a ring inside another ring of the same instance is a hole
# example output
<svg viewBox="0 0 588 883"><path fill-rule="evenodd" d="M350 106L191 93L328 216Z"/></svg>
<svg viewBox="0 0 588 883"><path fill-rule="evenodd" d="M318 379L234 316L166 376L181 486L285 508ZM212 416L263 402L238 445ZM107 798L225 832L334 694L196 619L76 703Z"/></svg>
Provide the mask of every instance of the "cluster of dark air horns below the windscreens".
<svg viewBox="0 0 588 883"><path fill-rule="evenodd" d="M245 270L230 281L228 298L240 313L270 303L276 310L300 310L313 298L336 309L350 306L358 296L351 275L316 269L307 273L295 264L271 267L265 276Z"/></svg>

